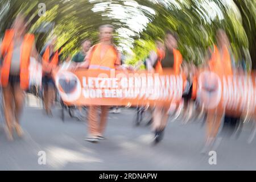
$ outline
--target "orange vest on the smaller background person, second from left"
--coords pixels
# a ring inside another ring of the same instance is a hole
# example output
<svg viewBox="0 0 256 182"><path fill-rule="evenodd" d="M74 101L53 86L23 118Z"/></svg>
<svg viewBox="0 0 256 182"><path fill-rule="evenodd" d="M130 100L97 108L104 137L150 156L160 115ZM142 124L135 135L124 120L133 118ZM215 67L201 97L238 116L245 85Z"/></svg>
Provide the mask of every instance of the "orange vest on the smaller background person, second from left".
<svg viewBox="0 0 256 182"><path fill-rule="evenodd" d="M52 57L50 58L50 49L49 46L47 46L46 51L44 51L43 54L43 70L53 69L57 67L57 64L59 63L59 51L56 51Z"/></svg>

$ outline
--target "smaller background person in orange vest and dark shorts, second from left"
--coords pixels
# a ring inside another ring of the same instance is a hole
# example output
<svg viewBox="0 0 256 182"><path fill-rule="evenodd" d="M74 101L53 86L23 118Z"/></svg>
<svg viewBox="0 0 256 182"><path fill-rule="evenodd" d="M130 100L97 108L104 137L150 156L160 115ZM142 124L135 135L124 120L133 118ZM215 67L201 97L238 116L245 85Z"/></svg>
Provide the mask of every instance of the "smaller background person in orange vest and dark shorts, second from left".
<svg viewBox="0 0 256 182"><path fill-rule="evenodd" d="M52 115L51 107L53 101L55 100L55 84L52 79L52 70L59 65L59 50L55 51L55 44L57 37L53 36L50 42L46 45L46 48L41 51L42 55L42 65L43 65L43 78L42 83L44 87L44 109L46 110L47 115Z"/></svg>

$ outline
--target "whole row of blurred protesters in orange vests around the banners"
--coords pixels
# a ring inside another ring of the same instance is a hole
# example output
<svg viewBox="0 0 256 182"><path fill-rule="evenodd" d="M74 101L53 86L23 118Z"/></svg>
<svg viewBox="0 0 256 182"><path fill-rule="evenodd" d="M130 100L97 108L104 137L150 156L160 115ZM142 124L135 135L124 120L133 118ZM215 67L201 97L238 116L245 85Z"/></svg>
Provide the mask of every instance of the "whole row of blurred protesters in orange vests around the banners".
<svg viewBox="0 0 256 182"><path fill-rule="evenodd" d="M35 37L27 32L27 18L18 14L10 29L6 30L1 43L1 72L0 80L3 98L3 113L6 120L6 134L9 140L13 140L13 132L16 131L22 137L23 130L20 126L20 114L23 109L24 93L31 92L33 82L30 76L31 57L42 68L38 72L42 81L42 98L44 110L52 115L52 106L56 100L56 86L53 78L53 71L56 69L96 69L118 71L133 70L141 68L151 73L161 74L164 69L172 68L175 75L183 75L184 90L182 101L172 109L163 106L149 106L147 112L151 114L148 121L154 132L154 142L158 143L163 139L168 118L182 117L187 123L192 114L201 115L204 113L206 123L205 149L213 146L217 140L221 121L237 125L244 118L246 113L230 114L225 111L225 106L208 108L204 104L204 94L209 94L214 100L214 91L217 89L216 80L203 77L200 80L202 88L206 91L198 92L199 73L207 70L219 76L232 76L236 72L247 73L244 61L234 60L229 38L224 29L216 32L217 42L208 48L205 61L201 65L193 64L193 61L183 59L179 51L179 36L175 31L167 30L162 39L155 40L155 49L152 49L144 60L138 61L136 65L127 65L122 59L117 47L113 44L114 26L104 24L99 27L99 41L92 45L90 38L85 39L81 44L81 50L75 55L70 55L61 60L61 47L56 46L57 36L52 35L51 39L42 50L36 50ZM40 81L39 81L40 82ZM43 90L43 91L42 91ZM212 94L212 95L210 95ZM207 95L208 96L208 95ZM196 105L196 107L195 107ZM104 131L107 123L109 110L112 113L120 113L121 107L105 105L89 105L87 107L88 132L85 140L98 142L105 139ZM142 109L141 109L142 108ZM81 107L77 107L82 110ZM182 111L181 111L182 110ZM100 113L99 113L100 111ZM142 115L144 106L138 106L137 113ZM100 115L100 118L98 116ZM143 115L142 115L143 116Z"/></svg>

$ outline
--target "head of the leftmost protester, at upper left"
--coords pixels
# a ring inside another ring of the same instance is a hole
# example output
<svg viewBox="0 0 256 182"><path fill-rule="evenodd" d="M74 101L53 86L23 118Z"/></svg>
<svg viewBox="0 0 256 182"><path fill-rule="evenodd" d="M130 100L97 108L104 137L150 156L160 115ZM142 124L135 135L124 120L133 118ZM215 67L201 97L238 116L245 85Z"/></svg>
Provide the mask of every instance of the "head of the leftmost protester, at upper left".
<svg viewBox="0 0 256 182"><path fill-rule="evenodd" d="M26 16L23 13L19 13L14 22L12 28L14 29L16 35L20 36L26 32L27 20Z"/></svg>

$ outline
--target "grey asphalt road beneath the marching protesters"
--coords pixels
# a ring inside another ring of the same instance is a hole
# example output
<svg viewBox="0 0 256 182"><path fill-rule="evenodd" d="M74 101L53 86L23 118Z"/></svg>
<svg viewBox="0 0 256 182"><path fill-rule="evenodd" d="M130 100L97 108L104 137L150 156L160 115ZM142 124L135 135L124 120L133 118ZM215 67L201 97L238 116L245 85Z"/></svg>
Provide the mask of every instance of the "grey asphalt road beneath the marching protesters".
<svg viewBox="0 0 256 182"><path fill-rule="evenodd" d="M53 109L49 118L40 102L26 104L22 115L24 137L6 139L0 127L1 170L255 170L256 139L246 142L250 123L240 137L224 137L216 150L217 164L210 165L210 156L201 154L205 128L200 121L183 125L180 120L168 123L161 143L152 144L150 127L133 126L134 109L110 114L106 140L89 143L86 121L66 117ZM68 115L66 113L66 115ZM2 121L3 119L1 119ZM2 121L3 123L3 121ZM46 152L46 164L38 164L39 151Z"/></svg>

